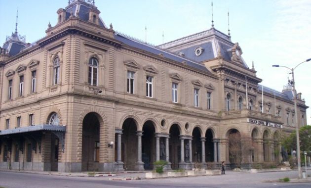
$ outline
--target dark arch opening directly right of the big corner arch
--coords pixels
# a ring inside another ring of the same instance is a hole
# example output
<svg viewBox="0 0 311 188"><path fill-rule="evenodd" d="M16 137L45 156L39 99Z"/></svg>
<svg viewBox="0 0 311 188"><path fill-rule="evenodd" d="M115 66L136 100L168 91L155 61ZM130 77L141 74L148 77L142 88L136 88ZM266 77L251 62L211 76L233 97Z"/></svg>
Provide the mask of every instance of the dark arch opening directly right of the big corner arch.
<svg viewBox="0 0 311 188"><path fill-rule="evenodd" d="M137 125L133 118L127 118L122 125L121 159L125 170L135 170L137 162Z"/></svg>

